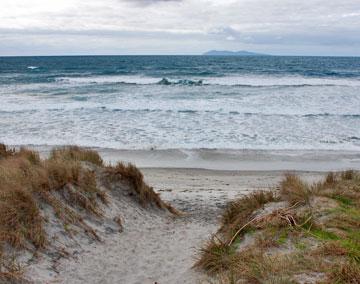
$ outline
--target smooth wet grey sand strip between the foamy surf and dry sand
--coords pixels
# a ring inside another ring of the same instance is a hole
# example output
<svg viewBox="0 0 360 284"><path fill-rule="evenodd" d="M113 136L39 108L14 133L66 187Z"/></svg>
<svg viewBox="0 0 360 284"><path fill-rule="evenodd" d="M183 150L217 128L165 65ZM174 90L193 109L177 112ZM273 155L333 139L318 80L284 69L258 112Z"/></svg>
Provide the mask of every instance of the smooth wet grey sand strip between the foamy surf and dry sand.
<svg viewBox="0 0 360 284"><path fill-rule="evenodd" d="M13 145L27 147L46 157L59 146ZM121 150L85 147L101 155L104 161L131 162L139 168L192 169L213 171L296 171L329 172L360 170L360 151L343 150L236 150L236 149L168 149Z"/></svg>

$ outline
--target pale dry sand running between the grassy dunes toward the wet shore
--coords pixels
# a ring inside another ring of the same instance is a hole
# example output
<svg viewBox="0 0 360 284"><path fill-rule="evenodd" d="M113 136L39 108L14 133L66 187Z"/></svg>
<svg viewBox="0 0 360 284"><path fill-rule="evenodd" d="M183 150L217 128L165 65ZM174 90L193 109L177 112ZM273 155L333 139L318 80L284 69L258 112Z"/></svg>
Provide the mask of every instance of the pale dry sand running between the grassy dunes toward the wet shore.
<svg viewBox="0 0 360 284"><path fill-rule="evenodd" d="M227 201L256 189L276 190L283 175L281 171L142 171L164 200L185 213L183 217L116 201L106 215L121 212L122 233L114 233L110 227L101 234L101 243L80 241L79 247L71 249L71 257L58 261L56 272L39 263L29 276L38 283L200 283L206 276L192 269L196 253L218 228ZM300 175L317 180L323 173Z"/></svg>

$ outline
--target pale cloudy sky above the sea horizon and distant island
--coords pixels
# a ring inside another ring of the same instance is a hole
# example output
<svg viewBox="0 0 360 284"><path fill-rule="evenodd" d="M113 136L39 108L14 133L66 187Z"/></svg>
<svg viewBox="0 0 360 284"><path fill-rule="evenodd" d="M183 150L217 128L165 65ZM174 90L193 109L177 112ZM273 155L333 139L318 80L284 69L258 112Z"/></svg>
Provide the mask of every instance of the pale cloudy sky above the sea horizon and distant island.
<svg viewBox="0 0 360 284"><path fill-rule="evenodd" d="M359 0L1 0L0 55L360 56Z"/></svg>

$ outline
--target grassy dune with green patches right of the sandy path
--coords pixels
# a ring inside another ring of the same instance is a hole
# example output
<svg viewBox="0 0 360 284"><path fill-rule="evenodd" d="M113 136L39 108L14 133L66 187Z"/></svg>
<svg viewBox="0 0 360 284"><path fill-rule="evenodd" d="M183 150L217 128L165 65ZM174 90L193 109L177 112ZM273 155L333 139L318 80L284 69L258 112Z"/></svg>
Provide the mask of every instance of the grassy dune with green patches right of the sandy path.
<svg viewBox="0 0 360 284"><path fill-rule="evenodd" d="M276 195L229 203L195 267L219 283L360 283L360 174L286 175Z"/></svg>

